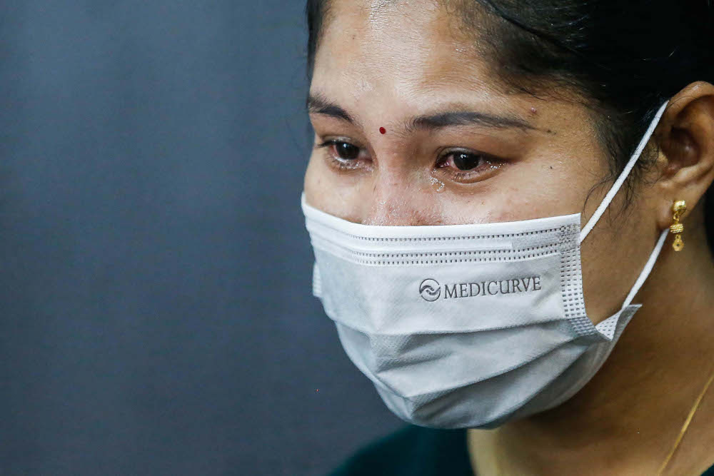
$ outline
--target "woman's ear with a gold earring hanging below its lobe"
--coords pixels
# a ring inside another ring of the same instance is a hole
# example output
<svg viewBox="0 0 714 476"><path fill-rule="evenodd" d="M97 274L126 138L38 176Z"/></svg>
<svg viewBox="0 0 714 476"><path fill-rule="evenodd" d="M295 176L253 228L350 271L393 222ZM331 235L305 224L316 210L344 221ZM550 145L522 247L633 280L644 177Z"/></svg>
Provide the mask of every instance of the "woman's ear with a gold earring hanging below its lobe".
<svg viewBox="0 0 714 476"><path fill-rule="evenodd" d="M714 86L697 81L685 87L670 99L660 126L663 167L655 187L664 229L672 222L675 201L686 201L691 211L714 181Z"/></svg>

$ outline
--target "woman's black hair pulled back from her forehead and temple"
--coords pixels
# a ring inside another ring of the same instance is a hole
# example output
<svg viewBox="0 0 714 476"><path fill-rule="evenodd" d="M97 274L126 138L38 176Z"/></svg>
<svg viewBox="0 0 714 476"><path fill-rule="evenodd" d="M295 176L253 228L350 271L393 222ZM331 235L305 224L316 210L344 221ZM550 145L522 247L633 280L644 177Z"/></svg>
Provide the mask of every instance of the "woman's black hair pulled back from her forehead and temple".
<svg viewBox="0 0 714 476"><path fill-rule="evenodd" d="M552 94L571 91L593 112L611 158L607 183L623 170L658 108L689 83L714 83L712 0L442 0L461 28L481 40L504 85ZM308 80L330 0L307 0ZM554 87L563 86L563 87ZM643 153L625 188L651 165ZM714 248L714 191L705 197Z"/></svg>

